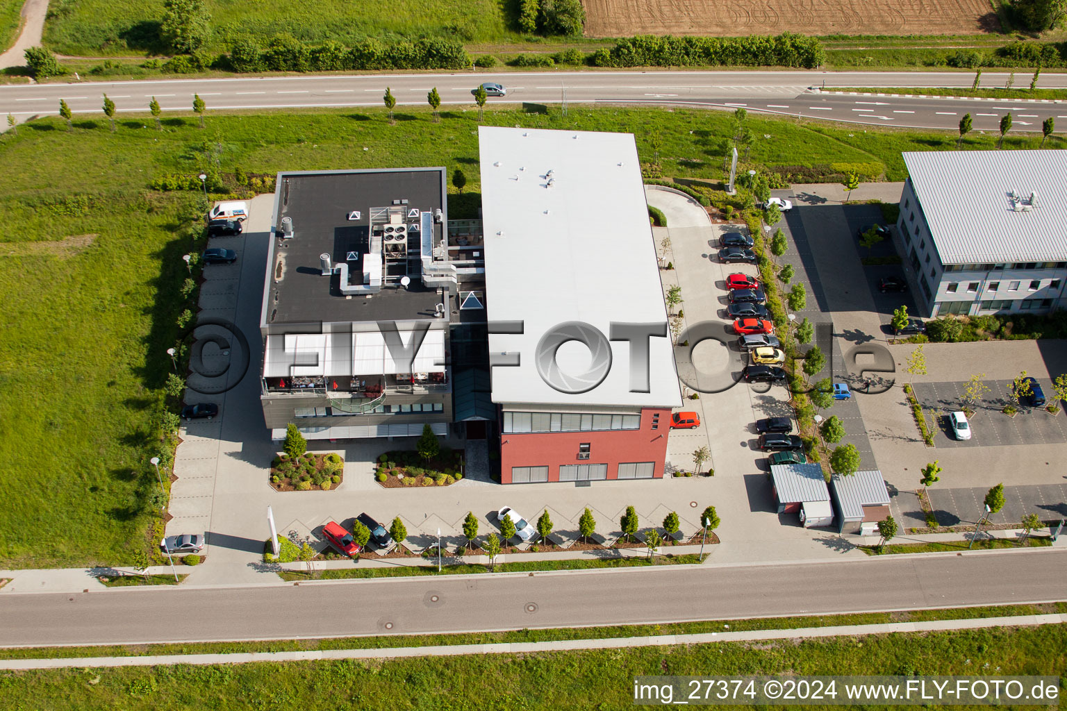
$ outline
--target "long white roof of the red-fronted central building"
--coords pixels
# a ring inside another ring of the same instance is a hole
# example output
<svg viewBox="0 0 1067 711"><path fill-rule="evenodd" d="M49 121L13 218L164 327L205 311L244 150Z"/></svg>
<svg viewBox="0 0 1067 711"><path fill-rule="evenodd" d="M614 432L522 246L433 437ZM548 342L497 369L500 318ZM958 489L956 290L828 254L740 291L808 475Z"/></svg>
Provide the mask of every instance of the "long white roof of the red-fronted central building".
<svg viewBox="0 0 1067 711"><path fill-rule="evenodd" d="M542 336L568 322L606 338L612 322L666 326L633 134L482 126L478 135L487 316L524 322L521 335L490 329L491 357L519 354L521 363L492 369L493 402L680 406L669 334L649 339L649 392L631 392L626 341L610 342L607 377L583 393L551 387L536 363ZM573 342L557 355L574 375L591 360Z"/></svg>

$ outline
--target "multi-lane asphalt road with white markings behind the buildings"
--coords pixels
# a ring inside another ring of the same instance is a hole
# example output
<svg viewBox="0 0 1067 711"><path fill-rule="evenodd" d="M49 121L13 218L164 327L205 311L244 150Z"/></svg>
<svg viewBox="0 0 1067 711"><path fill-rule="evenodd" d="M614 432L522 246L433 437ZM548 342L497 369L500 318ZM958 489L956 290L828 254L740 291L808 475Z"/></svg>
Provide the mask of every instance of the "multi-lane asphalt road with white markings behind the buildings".
<svg viewBox="0 0 1067 711"><path fill-rule="evenodd" d="M1003 86L1007 75L987 74L985 86ZM1064 126L1067 102L987 99L837 96L819 86L970 86L971 74L879 71L552 71L373 76L294 76L235 79L163 79L129 82L70 82L0 87L0 113L20 120L57 114L65 99L76 114L101 114L102 94L120 112L146 113L155 96L163 111L189 111L193 94L208 110L309 107L381 107L389 86L398 106L426 106L436 86L444 104L471 104L471 90L482 81L508 86L508 96L490 103L568 102L691 106L807 116L857 124L955 129L970 113L974 130L998 130L1001 115L1013 113L1016 131L1040 131L1054 116ZM1016 77L1029 86L1029 75ZM1041 87L1067 87L1067 74L1042 74Z"/></svg>

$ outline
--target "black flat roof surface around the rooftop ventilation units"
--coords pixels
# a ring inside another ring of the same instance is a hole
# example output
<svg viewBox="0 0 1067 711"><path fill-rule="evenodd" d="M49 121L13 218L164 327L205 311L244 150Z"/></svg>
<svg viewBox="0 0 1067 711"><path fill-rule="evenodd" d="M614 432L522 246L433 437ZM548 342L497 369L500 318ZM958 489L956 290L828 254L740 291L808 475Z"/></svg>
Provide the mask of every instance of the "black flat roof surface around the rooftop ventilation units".
<svg viewBox="0 0 1067 711"><path fill-rule="evenodd" d="M432 319L441 303L436 288L423 286L417 260L386 260L381 291L346 296L337 274L322 276L319 255L333 264L348 261L350 284L362 284L362 258L368 252L371 208L401 209L407 214L442 211L435 230L447 224L445 168L389 168L280 173L274 198L275 239L271 245L264 322L271 324ZM397 201L394 205L394 201ZM354 211L359 217L349 220ZM293 237L282 239L282 219L292 220ZM437 236L440 238L440 233ZM418 254L419 237L409 239ZM281 268L280 268L281 264ZM397 284L408 274L408 288Z"/></svg>

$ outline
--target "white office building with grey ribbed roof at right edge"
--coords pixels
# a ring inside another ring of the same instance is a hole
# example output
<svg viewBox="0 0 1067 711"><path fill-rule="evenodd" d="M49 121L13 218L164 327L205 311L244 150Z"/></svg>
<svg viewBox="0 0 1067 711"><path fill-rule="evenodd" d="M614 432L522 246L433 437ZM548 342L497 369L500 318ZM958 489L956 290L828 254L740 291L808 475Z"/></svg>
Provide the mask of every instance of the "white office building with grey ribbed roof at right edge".
<svg viewBox="0 0 1067 711"><path fill-rule="evenodd" d="M1067 151L906 152L896 226L920 316L1067 306Z"/></svg>

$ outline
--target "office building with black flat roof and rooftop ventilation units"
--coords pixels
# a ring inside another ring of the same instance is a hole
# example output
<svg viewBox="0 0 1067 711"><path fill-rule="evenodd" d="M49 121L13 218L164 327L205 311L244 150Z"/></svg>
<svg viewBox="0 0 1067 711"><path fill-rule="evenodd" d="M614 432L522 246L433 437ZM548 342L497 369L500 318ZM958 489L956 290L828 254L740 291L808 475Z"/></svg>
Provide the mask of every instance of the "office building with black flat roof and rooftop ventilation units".
<svg viewBox="0 0 1067 711"><path fill-rule="evenodd" d="M274 439L289 422L309 439L448 432L451 335L469 340L484 308L478 249L449 249L445 180L443 167L278 174L259 324Z"/></svg>

